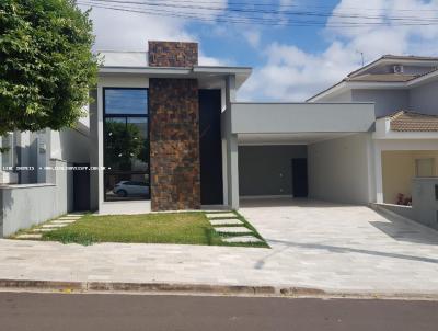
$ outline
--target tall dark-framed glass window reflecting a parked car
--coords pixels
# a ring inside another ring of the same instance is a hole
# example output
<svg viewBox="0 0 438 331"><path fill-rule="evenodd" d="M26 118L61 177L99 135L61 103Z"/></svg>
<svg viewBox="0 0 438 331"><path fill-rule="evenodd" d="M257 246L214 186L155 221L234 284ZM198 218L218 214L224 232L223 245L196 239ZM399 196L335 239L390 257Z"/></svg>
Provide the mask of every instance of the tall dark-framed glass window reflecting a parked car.
<svg viewBox="0 0 438 331"><path fill-rule="evenodd" d="M146 89L104 89L105 201L149 199Z"/></svg>

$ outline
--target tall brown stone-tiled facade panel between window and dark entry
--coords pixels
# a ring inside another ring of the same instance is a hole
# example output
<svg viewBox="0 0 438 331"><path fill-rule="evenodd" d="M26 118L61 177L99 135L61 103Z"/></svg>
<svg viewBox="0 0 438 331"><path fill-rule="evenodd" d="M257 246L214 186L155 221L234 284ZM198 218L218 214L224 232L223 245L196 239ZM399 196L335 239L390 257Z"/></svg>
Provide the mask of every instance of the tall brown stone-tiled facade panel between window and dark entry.
<svg viewBox="0 0 438 331"><path fill-rule="evenodd" d="M151 78L149 112L152 210L198 209L197 80Z"/></svg>

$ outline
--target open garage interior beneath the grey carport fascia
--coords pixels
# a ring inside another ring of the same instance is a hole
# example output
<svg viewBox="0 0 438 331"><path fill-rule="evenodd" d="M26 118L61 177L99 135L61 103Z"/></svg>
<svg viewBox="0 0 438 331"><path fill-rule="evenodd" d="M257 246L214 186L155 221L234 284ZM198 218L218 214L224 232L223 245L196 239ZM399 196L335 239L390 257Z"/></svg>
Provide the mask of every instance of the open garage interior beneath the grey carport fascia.
<svg viewBox="0 0 438 331"><path fill-rule="evenodd" d="M368 133L239 138L241 199L310 198L362 205L372 199L373 163ZM266 142L254 144L262 139Z"/></svg>

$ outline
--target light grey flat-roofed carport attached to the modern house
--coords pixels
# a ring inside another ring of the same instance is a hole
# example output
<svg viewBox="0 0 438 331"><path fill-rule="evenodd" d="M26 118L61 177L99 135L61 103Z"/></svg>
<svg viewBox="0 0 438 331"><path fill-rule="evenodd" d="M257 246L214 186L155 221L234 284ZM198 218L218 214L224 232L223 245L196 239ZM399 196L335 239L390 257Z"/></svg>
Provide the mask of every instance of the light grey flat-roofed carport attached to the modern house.
<svg viewBox="0 0 438 331"><path fill-rule="evenodd" d="M222 113L228 204L372 199L372 103L231 103Z"/></svg>

